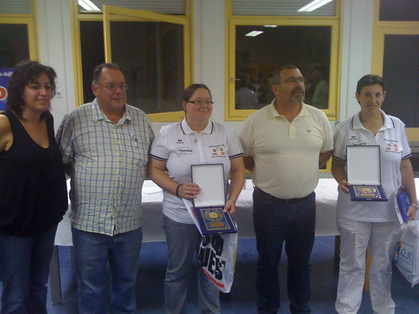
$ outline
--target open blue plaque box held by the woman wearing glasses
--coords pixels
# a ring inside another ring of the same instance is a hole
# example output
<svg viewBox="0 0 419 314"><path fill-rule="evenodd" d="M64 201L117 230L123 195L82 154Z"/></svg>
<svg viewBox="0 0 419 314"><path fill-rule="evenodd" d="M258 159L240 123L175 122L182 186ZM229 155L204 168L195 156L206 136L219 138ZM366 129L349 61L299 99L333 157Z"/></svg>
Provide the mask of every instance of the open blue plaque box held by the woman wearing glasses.
<svg viewBox="0 0 419 314"><path fill-rule="evenodd" d="M226 200L223 164L192 165L191 173L192 182L199 185L201 192L187 208L201 234L236 233L230 213L223 211Z"/></svg>

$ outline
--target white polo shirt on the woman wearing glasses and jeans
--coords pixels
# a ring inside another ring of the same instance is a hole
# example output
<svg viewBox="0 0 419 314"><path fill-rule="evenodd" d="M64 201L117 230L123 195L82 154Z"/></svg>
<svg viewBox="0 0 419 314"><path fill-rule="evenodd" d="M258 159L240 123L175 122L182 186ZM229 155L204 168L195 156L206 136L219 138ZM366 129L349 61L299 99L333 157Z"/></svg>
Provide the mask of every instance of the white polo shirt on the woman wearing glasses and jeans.
<svg viewBox="0 0 419 314"><path fill-rule="evenodd" d="M226 197L230 159L240 156L243 149L233 129L210 121L198 133L190 129L186 118L161 128L151 150L151 157L165 161L169 177L180 184L191 182L190 165L223 164ZM182 200L164 190L163 196L164 215L176 222L193 224Z"/></svg>

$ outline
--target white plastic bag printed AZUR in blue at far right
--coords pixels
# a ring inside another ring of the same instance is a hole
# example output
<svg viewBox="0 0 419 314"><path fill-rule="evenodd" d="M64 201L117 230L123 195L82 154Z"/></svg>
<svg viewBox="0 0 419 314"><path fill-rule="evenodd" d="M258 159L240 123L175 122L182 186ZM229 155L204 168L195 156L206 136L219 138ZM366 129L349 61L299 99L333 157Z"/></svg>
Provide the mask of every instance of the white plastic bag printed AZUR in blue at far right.
<svg viewBox="0 0 419 314"><path fill-rule="evenodd" d="M394 262L413 287L419 282L419 221L409 220L401 228Z"/></svg>

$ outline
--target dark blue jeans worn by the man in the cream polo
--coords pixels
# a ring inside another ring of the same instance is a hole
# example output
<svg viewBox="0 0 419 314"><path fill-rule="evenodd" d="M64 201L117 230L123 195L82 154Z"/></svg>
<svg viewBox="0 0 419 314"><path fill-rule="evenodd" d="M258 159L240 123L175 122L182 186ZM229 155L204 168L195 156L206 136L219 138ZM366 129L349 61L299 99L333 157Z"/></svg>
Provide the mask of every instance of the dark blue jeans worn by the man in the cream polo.
<svg viewBox="0 0 419 314"><path fill-rule="evenodd" d="M311 295L309 259L316 226L316 194L281 200L255 187L253 225L259 253L256 272L258 313L278 312L278 263L284 241L288 258L289 309L291 313L311 312L308 306Z"/></svg>

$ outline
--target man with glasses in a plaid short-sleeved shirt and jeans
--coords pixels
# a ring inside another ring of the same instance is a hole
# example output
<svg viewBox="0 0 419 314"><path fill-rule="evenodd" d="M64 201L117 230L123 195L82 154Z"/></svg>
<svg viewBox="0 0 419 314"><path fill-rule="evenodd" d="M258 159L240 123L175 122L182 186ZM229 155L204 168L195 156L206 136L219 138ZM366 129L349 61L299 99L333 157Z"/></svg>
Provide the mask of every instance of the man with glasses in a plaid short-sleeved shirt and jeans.
<svg viewBox="0 0 419 314"><path fill-rule="evenodd" d="M147 115L126 104L127 88L119 66L97 66L95 100L66 115L57 131L71 177L70 219L83 314L135 312L141 189L154 134Z"/></svg>

